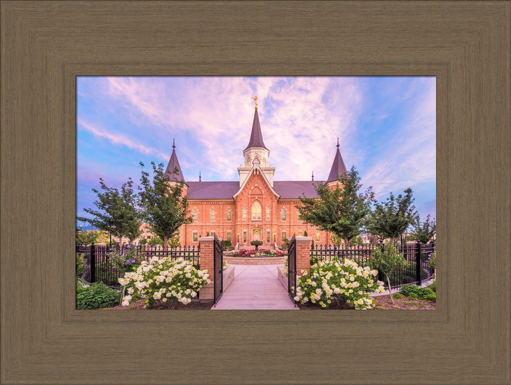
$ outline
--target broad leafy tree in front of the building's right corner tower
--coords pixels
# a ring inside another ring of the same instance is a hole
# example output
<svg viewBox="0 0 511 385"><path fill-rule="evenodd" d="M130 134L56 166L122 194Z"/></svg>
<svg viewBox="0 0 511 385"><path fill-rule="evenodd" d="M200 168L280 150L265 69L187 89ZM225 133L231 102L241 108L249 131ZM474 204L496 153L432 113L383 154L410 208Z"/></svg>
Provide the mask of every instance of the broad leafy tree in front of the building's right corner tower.
<svg viewBox="0 0 511 385"><path fill-rule="evenodd" d="M359 193L362 184L355 167L340 178L341 188L330 189L318 182L314 185L317 198L300 198L301 206L295 206L300 218L321 230L342 237L345 245L361 233L366 216L370 213L374 192L369 187Z"/></svg>

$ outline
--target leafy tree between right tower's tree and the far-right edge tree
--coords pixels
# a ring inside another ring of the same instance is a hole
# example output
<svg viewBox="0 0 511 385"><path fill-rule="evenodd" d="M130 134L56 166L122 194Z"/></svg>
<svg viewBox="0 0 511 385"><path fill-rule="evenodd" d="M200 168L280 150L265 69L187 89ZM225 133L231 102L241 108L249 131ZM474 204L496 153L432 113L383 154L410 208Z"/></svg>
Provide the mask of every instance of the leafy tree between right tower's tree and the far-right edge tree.
<svg viewBox="0 0 511 385"><path fill-rule="evenodd" d="M375 208L366 223L369 233L381 239L390 238L394 243L396 238L415 221L417 211L412 205L413 191L407 188L403 192L405 195L400 194L397 197L391 192L384 202L375 203Z"/></svg>

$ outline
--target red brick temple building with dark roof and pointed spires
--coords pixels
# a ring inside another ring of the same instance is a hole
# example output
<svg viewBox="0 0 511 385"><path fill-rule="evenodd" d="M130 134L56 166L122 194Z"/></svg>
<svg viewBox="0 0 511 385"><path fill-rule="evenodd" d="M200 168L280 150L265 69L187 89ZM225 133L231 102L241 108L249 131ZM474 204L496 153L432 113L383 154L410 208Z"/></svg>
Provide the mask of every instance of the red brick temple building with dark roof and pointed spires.
<svg viewBox="0 0 511 385"><path fill-rule="evenodd" d="M175 146L166 173L171 179L184 179ZM230 240L233 246L250 248L251 240L262 240L262 248L280 246L293 234L311 236L316 243L328 244L329 233L304 223L295 205L299 197L317 197L313 183L308 181L275 181L275 167L268 162L270 150L263 141L257 104L248 146L243 150L243 164L238 167L239 181L206 182L187 181L184 194L189 198L193 223L180 229L182 246L198 245L198 238L216 234ZM177 167L178 174L172 174ZM329 186L338 183L338 177L346 173L339 152L339 143L327 181Z"/></svg>

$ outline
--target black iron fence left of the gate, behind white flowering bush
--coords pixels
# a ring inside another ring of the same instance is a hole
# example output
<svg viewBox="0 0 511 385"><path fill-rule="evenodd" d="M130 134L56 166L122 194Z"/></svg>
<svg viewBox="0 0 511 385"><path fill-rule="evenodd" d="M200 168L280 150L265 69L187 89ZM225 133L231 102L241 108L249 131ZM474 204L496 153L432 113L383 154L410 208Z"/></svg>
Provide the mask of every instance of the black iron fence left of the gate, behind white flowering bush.
<svg viewBox="0 0 511 385"><path fill-rule="evenodd" d="M118 246L100 246L91 244L84 246L78 244L76 246L76 253L81 254L85 260L85 271L82 278L87 282L93 283L102 281L108 286L120 286L118 278L123 274L115 267L114 257L121 256L123 253L126 256L126 261L135 260L140 262L142 260L149 261L152 257L171 259L184 259L192 261L195 268L200 268L200 249L195 246L188 247L167 247L161 246L134 246L123 245ZM129 258L128 258L129 255Z"/></svg>

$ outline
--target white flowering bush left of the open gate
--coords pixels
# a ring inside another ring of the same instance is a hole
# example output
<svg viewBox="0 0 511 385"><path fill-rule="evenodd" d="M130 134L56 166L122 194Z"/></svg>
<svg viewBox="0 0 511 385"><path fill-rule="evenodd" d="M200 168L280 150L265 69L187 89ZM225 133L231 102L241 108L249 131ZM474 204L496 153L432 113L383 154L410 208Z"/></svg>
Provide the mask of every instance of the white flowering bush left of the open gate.
<svg viewBox="0 0 511 385"><path fill-rule="evenodd" d="M152 257L142 261L134 272L126 272L119 283L125 286L124 306L144 298L144 307L157 301L177 300L183 304L192 302L202 286L210 283L207 270L197 270L192 261L172 260L170 257Z"/></svg>

